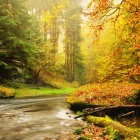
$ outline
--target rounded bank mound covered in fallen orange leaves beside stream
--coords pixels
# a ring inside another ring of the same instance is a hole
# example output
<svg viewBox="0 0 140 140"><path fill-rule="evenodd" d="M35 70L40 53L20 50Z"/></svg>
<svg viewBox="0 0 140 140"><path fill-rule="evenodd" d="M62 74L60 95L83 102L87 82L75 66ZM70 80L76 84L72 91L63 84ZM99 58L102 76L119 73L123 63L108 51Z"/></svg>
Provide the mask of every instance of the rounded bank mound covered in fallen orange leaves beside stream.
<svg viewBox="0 0 140 140"><path fill-rule="evenodd" d="M140 94L140 84L135 83L99 83L85 85L67 96L70 104L91 105L134 105Z"/></svg>

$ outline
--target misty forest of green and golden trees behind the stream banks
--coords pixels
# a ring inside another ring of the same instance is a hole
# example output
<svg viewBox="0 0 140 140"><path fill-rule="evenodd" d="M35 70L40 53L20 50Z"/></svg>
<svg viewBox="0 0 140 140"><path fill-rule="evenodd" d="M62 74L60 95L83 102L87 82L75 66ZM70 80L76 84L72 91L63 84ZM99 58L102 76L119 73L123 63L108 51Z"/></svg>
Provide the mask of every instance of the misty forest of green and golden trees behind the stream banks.
<svg viewBox="0 0 140 140"><path fill-rule="evenodd" d="M1 82L140 82L138 0L20 1L0 2Z"/></svg>

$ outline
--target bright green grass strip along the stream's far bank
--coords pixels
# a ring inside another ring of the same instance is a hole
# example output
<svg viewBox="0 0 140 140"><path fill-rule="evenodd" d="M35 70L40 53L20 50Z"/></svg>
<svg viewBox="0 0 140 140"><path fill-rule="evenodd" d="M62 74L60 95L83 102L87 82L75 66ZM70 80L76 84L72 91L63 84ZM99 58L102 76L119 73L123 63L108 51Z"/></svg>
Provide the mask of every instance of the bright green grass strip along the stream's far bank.
<svg viewBox="0 0 140 140"><path fill-rule="evenodd" d="M45 96L45 95L59 95L59 94L68 94L75 91L76 88L20 88L16 89L15 98L29 97L29 96Z"/></svg>

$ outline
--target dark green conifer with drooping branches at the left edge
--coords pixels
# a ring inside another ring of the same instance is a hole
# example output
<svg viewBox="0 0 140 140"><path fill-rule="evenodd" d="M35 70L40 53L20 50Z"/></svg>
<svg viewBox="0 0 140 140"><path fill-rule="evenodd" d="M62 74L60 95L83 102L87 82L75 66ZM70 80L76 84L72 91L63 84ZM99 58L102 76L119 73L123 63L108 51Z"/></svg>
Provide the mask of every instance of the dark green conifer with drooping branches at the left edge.
<svg viewBox="0 0 140 140"><path fill-rule="evenodd" d="M0 0L1 79L18 76L30 57L31 18L25 4L24 0Z"/></svg>

